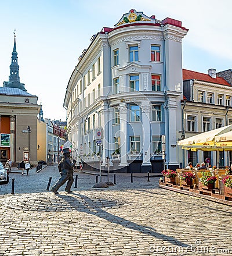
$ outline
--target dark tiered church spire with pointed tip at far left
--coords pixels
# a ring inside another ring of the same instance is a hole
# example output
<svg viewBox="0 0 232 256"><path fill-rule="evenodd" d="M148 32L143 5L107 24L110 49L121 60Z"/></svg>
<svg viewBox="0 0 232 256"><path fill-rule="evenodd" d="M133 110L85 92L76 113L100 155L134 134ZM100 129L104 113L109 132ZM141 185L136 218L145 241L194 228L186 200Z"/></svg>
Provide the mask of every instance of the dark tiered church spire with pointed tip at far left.
<svg viewBox="0 0 232 256"><path fill-rule="evenodd" d="M17 55L18 54L16 51L16 34L14 30L14 47L13 47L13 52L11 57L9 82L4 82L3 86L10 87L10 88L19 88L20 90L27 91L24 87L24 84L20 83Z"/></svg>

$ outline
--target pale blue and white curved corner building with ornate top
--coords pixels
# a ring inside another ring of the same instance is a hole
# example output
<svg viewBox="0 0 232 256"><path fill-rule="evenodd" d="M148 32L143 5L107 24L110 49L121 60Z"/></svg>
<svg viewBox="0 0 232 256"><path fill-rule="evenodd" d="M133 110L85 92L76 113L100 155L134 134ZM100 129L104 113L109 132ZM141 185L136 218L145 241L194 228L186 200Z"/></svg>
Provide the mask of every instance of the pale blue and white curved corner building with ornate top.
<svg viewBox="0 0 232 256"><path fill-rule="evenodd" d="M178 20L131 9L114 28L93 35L64 98L73 155L88 169L100 160L103 168L106 157L117 172L161 172L164 162L179 167L187 31Z"/></svg>

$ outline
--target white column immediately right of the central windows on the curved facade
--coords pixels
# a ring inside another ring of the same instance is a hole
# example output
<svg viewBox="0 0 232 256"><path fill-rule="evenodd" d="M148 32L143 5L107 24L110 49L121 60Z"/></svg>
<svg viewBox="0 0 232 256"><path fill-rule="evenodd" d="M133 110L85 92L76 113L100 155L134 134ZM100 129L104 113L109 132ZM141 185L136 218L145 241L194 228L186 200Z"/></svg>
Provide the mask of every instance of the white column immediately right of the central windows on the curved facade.
<svg viewBox="0 0 232 256"><path fill-rule="evenodd" d="M142 162L142 169L143 172L148 172L151 170L151 143L150 143L150 102L149 101L142 101L141 104L142 109L142 120L143 120L143 127L142 127L142 134L143 134L143 162Z"/></svg>

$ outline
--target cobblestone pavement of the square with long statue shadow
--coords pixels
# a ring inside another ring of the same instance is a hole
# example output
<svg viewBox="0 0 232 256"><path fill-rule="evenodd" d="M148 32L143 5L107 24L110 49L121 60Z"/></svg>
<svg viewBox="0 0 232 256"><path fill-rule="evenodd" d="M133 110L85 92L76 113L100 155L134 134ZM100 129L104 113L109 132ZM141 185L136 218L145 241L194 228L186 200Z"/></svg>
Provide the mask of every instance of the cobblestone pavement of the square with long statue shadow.
<svg viewBox="0 0 232 256"><path fill-rule="evenodd" d="M112 174L111 174L112 175ZM158 189L118 175L117 184L92 189L95 176L78 173L73 194L46 191L59 178L49 166L0 191L0 255L231 255L231 207ZM103 181L107 180L103 176Z"/></svg>

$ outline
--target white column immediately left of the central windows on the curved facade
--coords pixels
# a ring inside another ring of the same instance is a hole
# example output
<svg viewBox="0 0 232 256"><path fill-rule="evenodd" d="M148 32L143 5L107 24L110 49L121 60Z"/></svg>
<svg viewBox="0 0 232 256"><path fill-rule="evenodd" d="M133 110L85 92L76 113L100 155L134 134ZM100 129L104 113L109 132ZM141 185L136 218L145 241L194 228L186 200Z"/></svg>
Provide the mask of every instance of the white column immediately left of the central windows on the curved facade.
<svg viewBox="0 0 232 256"><path fill-rule="evenodd" d="M120 111L120 140L121 140L121 152L120 152L120 163L119 166L128 166L127 162L127 115L128 109L126 103L120 103L118 107Z"/></svg>

